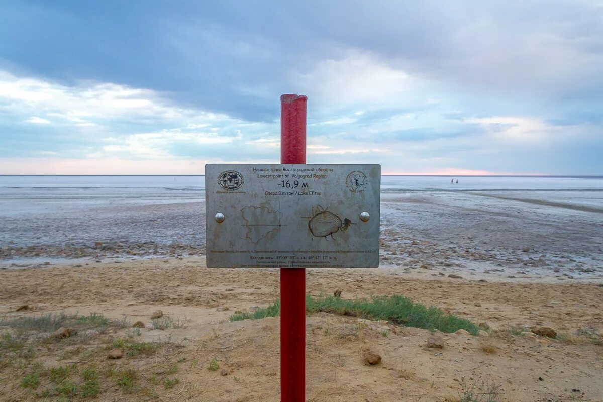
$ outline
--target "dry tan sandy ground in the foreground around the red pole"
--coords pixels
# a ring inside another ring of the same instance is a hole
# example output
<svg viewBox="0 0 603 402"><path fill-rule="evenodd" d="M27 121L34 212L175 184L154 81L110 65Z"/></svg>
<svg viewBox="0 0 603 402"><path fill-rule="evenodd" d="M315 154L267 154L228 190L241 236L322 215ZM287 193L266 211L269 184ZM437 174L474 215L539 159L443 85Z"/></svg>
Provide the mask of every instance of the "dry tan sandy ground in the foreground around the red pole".
<svg viewBox="0 0 603 402"><path fill-rule="evenodd" d="M425 269L308 270L309 294L336 289L343 291L343 298L400 294L487 322L491 331L487 337L443 334L444 348L430 349L425 347L428 330L327 313L308 316L306 400L458 401L463 381L478 388L482 382L499 386L502 394L493 400L500 401L603 400L603 345L570 336L603 327L600 284L500 278L480 282L431 274ZM135 394L124 394L115 381L101 376L96 400L280 400L279 319L227 321L235 310L274 301L279 294L277 271L207 269L203 257L190 257L2 271L0 283L2 319L99 312L150 324L151 313L160 309L185 327L142 328L140 335L131 328L112 329L36 348L33 359L42 369L76 363L80 370L91 364L138 370ZM30 310L16 312L22 304ZM216 310L222 306L229 310ZM548 325L569 338L531 338L507 328L521 325ZM5 330L0 328L0 333ZM128 336L130 341L166 344L151 356L106 360L105 345ZM488 353L489 345L497 350ZM365 365L362 353L367 350L380 354L382 362ZM19 381L29 368L14 354L4 354L14 362L0 365L0 400L55 400L35 396L49 386L47 378L36 392L21 388ZM207 369L212 359L218 371ZM179 382L166 389L165 380L175 378Z"/></svg>

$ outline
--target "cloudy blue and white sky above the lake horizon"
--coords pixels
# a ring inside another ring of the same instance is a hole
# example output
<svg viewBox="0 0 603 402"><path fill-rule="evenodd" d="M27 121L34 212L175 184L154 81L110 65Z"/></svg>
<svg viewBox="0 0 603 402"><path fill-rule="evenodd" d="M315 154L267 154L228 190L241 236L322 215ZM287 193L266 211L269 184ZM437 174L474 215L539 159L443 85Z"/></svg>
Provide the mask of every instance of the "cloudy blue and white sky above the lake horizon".
<svg viewBox="0 0 603 402"><path fill-rule="evenodd" d="M377 5L378 4L378 5ZM603 174L601 1L0 4L0 174Z"/></svg>

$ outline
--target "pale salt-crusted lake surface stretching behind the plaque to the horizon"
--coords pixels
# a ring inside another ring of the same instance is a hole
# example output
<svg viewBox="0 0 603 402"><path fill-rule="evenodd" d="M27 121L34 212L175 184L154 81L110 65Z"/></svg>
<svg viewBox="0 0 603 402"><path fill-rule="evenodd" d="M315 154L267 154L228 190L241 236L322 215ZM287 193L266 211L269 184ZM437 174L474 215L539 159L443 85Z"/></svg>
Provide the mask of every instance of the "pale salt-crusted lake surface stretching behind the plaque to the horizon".
<svg viewBox="0 0 603 402"><path fill-rule="evenodd" d="M601 275L603 177L384 176L381 237L383 265ZM204 243L201 175L0 176L5 262L204 254Z"/></svg>

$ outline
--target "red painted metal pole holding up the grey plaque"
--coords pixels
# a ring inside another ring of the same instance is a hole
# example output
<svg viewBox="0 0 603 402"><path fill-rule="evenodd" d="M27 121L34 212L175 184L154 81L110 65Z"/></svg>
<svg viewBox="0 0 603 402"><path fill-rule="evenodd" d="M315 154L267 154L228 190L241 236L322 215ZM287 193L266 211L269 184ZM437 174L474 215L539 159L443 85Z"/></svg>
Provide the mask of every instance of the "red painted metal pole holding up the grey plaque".
<svg viewBox="0 0 603 402"><path fill-rule="evenodd" d="M280 97L280 163L306 163L306 101ZM280 269L280 401L306 399L306 269Z"/></svg>

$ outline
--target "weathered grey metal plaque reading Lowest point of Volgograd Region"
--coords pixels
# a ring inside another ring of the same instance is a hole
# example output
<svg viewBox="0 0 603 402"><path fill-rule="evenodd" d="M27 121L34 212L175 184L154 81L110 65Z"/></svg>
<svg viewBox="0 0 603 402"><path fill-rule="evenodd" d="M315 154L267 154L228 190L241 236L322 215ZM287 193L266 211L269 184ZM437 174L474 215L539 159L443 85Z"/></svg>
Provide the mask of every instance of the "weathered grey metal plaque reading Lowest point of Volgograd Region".
<svg viewBox="0 0 603 402"><path fill-rule="evenodd" d="M379 165L205 165L209 268L379 266Z"/></svg>

